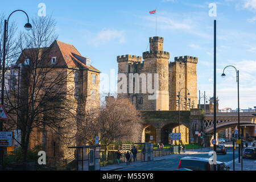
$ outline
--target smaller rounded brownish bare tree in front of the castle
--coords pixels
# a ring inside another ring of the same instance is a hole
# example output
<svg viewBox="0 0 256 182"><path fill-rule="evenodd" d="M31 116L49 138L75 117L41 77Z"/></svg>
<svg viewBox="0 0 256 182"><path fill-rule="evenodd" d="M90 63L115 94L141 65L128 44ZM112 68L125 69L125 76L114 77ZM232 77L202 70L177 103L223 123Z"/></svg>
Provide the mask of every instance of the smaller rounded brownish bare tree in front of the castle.
<svg viewBox="0 0 256 182"><path fill-rule="evenodd" d="M101 144L106 146L114 141L138 142L141 140L142 118L127 98L106 97L98 110L83 112L78 133L84 143L95 144L95 137L99 136Z"/></svg>

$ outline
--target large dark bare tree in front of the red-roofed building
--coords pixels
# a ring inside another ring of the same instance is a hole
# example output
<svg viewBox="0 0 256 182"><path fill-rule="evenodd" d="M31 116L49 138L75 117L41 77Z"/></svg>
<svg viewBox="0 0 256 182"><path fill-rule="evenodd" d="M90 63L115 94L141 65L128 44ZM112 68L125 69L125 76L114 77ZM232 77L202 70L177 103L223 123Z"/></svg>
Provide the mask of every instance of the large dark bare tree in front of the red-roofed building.
<svg viewBox="0 0 256 182"><path fill-rule="evenodd" d="M55 53L52 43L57 39L56 22L50 17L32 19L32 30L20 34L19 46L22 50L17 61L22 66L18 77L18 89L11 89L7 95L8 113L13 119L5 126L21 130L20 146L23 162L27 162L27 151L34 129L53 131L59 138L68 138L67 128L71 131L72 115L75 114L73 89L69 86L73 72L58 63L51 65L51 56ZM29 60L25 63L24 60ZM15 77L14 77L15 78ZM16 82L15 79L11 80ZM15 115L18 115L15 119ZM18 122L18 123L16 123ZM10 128L9 128L10 129ZM74 129L75 130L75 129ZM43 140L46 138L43 133ZM44 142L43 142L44 143ZM44 147L44 146L43 146ZM26 165L24 165L26 169Z"/></svg>

